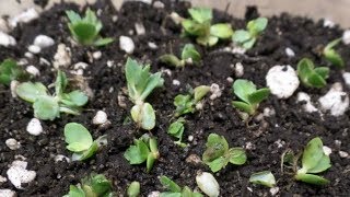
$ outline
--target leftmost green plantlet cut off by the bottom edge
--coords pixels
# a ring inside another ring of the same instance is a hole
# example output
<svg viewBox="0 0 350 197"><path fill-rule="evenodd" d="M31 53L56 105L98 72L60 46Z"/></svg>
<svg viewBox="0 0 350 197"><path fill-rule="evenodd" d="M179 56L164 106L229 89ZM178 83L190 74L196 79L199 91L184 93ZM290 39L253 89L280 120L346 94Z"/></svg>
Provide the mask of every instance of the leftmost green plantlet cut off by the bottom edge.
<svg viewBox="0 0 350 197"><path fill-rule="evenodd" d="M103 174L92 173L82 178L77 186L70 185L68 195L63 197L112 197L114 195L112 183Z"/></svg>

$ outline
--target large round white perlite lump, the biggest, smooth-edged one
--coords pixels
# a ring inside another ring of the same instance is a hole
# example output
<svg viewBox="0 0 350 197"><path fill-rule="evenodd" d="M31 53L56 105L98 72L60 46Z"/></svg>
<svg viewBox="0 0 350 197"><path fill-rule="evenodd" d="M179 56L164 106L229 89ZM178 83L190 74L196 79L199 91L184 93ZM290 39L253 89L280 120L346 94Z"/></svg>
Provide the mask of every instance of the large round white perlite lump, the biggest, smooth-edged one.
<svg viewBox="0 0 350 197"><path fill-rule="evenodd" d="M299 86L296 71L291 66L275 66L266 76L267 86L278 99L288 99Z"/></svg>

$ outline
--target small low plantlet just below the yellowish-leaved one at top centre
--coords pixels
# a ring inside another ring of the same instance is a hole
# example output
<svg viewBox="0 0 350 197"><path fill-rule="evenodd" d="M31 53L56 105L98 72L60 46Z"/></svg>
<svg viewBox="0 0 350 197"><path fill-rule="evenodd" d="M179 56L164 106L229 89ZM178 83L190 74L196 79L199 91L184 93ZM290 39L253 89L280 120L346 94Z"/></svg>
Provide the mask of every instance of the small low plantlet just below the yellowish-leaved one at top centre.
<svg viewBox="0 0 350 197"><path fill-rule="evenodd" d="M186 44L183 48L182 59L173 54L165 54L160 57L160 61L173 66L184 68L185 65L198 65L200 61L200 54L196 50L192 44Z"/></svg>

